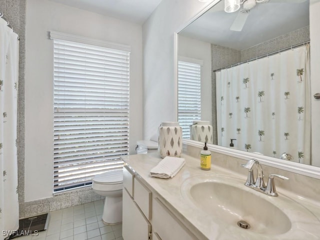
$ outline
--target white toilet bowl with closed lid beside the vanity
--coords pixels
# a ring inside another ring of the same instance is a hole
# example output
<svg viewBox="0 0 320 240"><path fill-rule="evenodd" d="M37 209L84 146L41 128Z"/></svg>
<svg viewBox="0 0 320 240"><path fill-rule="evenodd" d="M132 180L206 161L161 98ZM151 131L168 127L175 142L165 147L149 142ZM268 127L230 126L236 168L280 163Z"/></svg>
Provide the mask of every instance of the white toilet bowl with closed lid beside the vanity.
<svg viewBox="0 0 320 240"><path fill-rule="evenodd" d="M116 224L122 221L122 186L122 169L103 172L92 179L93 191L105 196L102 213L102 221L105 224Z"/></svg>

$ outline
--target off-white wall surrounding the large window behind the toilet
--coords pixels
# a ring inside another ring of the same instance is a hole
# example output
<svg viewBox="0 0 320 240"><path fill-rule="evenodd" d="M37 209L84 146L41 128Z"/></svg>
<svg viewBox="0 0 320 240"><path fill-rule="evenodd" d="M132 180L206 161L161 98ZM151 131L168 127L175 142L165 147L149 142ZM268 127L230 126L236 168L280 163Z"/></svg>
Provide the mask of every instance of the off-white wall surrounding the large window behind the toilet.
<svg viewBox="0 0 320 240"><path fill-rule="evenodd" d="M130 153L142 138L142 27L48 0L26 1L25 201L52 196L53 42L50 30L131 46Z"/></svg>

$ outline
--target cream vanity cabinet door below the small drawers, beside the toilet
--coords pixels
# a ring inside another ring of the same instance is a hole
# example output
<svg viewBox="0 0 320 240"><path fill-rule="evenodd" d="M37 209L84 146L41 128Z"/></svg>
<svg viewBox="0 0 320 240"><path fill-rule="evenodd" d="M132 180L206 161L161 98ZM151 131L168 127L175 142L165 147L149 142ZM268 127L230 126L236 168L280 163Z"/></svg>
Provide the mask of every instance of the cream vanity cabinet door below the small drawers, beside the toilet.
<svg viewBox="0 0 320 240"><path fill-rule="evenodd" d="M148 240L151 225L129 193L123 188L122 237L124 240Z"/></svg>

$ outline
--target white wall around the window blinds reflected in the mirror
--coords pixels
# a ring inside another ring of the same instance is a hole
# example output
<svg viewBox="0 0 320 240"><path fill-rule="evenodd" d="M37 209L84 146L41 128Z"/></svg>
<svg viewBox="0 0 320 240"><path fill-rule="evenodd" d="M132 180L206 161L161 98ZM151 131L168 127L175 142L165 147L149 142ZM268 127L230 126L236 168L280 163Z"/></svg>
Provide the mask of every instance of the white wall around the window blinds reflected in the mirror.
<svg viewBox="0 0 320 240"><path fill-rule="evenodd" d="M211 44L178 34L178 56L203 61L201 66L201 119L209 120L212 124Z"/></svg>

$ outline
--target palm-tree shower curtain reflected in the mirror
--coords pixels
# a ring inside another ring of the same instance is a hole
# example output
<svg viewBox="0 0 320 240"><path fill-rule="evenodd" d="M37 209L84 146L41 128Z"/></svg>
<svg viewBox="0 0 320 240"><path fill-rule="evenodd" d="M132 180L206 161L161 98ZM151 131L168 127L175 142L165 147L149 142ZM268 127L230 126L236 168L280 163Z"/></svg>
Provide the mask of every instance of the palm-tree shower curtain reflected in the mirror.
<svg viewBox="0 0 320 240"><path fill-rule="evenodd" d="M310 164L309 45L216 72L218 144Z"/></svg>

